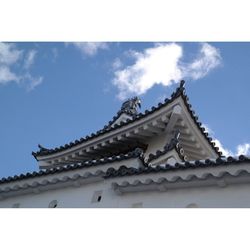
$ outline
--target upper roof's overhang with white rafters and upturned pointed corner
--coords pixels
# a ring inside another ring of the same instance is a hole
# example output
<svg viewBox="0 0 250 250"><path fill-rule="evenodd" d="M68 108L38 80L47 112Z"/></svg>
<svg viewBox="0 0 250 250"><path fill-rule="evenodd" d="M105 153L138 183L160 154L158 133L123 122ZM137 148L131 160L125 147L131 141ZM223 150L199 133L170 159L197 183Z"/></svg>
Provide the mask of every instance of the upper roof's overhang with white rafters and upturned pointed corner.
<svg viewBox="0 0 250 250"><path fill-rule="evenodd" d="M220 154L205 134L190 109L184 90L177 90L171 99L159 103L157 107L146 110L133 120L109 128L93 138L77 143L64 150L53 153L36 154L40 167L61 166L93 158L107 156L116 150L129 151L135 147L145 147L147 142L162 133L171 137L176 129L181 132L180 142L188 160L217 158ZM118 151L117 151L118 153Z"/></svg>

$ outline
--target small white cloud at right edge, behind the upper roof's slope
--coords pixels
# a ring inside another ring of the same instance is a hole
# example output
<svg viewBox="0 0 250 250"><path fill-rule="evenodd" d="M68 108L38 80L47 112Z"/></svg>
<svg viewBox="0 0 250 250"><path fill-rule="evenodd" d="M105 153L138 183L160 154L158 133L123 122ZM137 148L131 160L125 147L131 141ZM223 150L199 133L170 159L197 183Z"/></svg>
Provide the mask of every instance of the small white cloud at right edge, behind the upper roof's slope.
<svg viewBox="0 0 250 250"><path fill-rule="evenodd" d="M208 132L210 136L214 138L213 142L215 143L215 146L219 148L219 150L222 152L224 156L228 157L228 156L250 155L250 143L239 144L236 148L236 151L233 152L225 148L220 142L220 140L215 138L213 130L208 125L203 125L203 127L205 128L206 132Z"/></svg>

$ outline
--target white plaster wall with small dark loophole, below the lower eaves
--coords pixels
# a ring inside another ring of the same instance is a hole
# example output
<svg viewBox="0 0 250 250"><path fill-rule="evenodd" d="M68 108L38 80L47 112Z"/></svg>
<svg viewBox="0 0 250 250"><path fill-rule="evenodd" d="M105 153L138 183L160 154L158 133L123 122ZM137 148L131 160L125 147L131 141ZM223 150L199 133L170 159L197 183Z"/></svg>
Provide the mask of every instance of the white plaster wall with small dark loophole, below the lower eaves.
<svg viewBox="0 0 250 250"><path fill-rule="evenodd" d="M110 179L111 180L111 179ZM58 201L58 207L64 208L129 208L142 202L149 208L184 208L196 204L201 208L250 207L250 184L235 184L221 188L218 186L173 189L166 192L150 191L117 195L111 189L110 180L46 191L39 194L23 195L0 201L0 207L9 208L15 203L25 208L47 208L52 200ZM91 203L95 191L102 190L102 199Z"/></svg>

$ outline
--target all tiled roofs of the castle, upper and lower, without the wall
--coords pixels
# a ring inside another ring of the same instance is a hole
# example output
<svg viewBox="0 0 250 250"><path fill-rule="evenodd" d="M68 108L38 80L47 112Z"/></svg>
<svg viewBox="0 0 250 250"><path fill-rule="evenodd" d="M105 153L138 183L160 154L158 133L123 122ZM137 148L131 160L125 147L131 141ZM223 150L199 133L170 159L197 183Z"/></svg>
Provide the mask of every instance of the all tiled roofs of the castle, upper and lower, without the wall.
<svg viewBox="0 0 250 250"><path fill-rule="evenodd" d="M250 158L222 156L192 110L184 81L144 113L139 103L129 99L102 130L67 146L39 145L33 155L43 169L0 179L0 199L100 181L117 194L250 181Z"/></svg>

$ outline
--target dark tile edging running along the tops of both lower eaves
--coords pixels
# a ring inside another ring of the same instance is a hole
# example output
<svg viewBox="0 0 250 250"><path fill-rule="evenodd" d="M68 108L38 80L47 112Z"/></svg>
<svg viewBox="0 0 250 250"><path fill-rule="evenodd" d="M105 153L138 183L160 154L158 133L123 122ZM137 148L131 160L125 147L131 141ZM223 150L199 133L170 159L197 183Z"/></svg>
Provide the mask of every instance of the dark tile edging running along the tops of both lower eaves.
<svg viewBox="0 0 250 250"><path fill-rule="evenodd" d="M120 157L121 155L123 157ZM26 174L9 176L9 177L0 179L0 185L13 182L13 181L29 179L33 177L39 177L39 176L50 175L54 173L66 172L70 170L82 169L85 167L96 166L100 163L103 164L103 163L108 163L108 162L122 161L122 160L126 160L129 158L136 158L136 157L142 160L144 167L140 167L140 168L130 167L129 168L126 166L121 166L117 170L111 167L111 168L108 168L107 171L105 172L104 178L147 174L147 173L158 173L158 172L165 172L165 171L175 171L178 169L185 170L185 169L190 169L190 168L200 168L200 167L209 167L209 166L217 167L217 166L222 166L222 165L250 163L250 156L239 155L237 158L232 157L232 156L229 156L227 158L219 157L217 159L186 161L182 163L175 163L175 165L165 164L165 165L157 165L155 167L152 167L144 161L143 150L140 148L136 148L135 150L128 152L127 154L120 154L118 156L106 157L105 161L103 162L101 161L104 158L96 160L95 162L92 162L93 164L91 164L91 162L89 161L85 161L83 163L69 164L69 165L64 165L62 167L56 167L56 168L51 168L51 169L46 169L46 170L34 171L32 173L28 172Z"/></svg>

